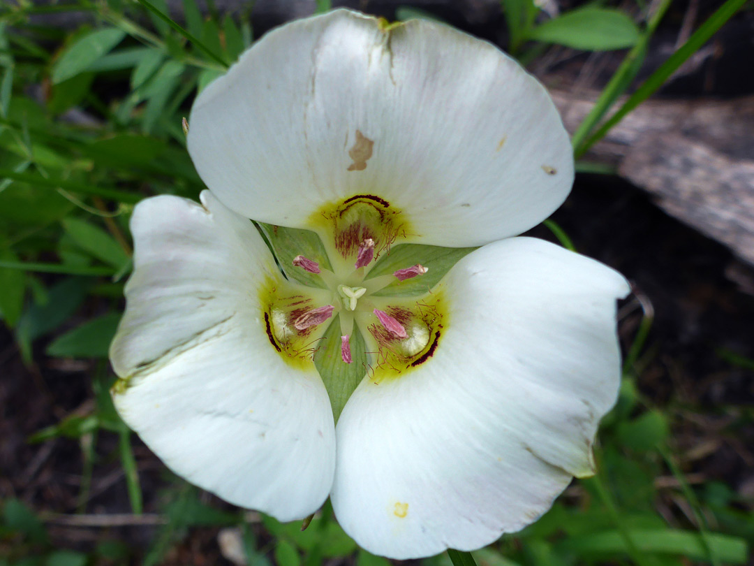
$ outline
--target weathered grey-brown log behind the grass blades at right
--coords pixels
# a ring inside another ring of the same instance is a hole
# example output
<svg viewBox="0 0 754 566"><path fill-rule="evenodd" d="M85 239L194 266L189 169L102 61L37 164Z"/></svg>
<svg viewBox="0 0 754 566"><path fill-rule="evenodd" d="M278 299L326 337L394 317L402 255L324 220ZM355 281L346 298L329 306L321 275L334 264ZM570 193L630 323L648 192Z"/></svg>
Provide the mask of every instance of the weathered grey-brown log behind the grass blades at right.
<svg viewBox="0 0 754 566"><path fill-rule="evenodd" d="M573 132L596 94L553 98ZM754 265L754 97L651 100L587 158L614 166L668 214Z"/></svg>

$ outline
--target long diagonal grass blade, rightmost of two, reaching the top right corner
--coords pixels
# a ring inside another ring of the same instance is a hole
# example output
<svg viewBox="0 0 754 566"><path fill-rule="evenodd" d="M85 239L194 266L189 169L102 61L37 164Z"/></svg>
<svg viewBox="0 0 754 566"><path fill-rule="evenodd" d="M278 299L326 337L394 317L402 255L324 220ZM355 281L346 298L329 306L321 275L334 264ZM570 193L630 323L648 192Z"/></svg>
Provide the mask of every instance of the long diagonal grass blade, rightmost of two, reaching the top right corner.
<svg viewBox="0 0 754 566"><path fill-rule="evenodd" d="M719 8L712 16L710 16L706 22L704 22L690 38L676 51L673 55L668 57L667 61L663 63L659 69L651 74L651 76L642 83L642 85L636 89L631 97L621 106L618 112L615 112L602 128L599 128L593 136L586 140L579 150L578 155L583 154L591 146L597 143L605 134L610 131L610 128L621 122L621 120L636 106L639 106L642 102L648 99L658 88L673 75L673 72L691 57L707 40L709 40L714 33L722 27L722 25L733 17L733 15L746 3L746 0L727 0L721 8Z"/></svg>

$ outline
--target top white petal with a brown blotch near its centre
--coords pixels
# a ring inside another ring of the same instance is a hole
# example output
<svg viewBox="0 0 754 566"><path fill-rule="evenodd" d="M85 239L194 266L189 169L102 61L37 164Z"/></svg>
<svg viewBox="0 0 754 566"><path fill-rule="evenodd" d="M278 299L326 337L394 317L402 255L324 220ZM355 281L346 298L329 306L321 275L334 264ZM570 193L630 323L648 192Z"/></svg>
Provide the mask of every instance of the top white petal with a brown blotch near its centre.
<svg viewBox="0 0 754 566"><path fill-rule="evenodd" d="M289 23L200 94L190 125L218 198L285 226L369 194L403 212L412 240L481 245L544 220L573 181L542 85L495 46L425 20L385 32L340 10ZM372 156L348 171L360 136Z"/></svg>

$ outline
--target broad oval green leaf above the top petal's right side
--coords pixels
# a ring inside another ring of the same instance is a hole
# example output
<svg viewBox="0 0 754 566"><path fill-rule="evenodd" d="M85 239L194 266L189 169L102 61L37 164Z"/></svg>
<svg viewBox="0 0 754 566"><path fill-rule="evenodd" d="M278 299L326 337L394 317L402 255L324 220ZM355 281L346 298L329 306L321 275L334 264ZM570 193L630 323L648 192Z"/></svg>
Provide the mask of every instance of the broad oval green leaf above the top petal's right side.
<svg viewBox="0 0 754 566"><path fill-rule="evenodd" d="M611 8L578 8L529 30L529 38L584 51L624 49L639 41L639 27Z"/></svg>

